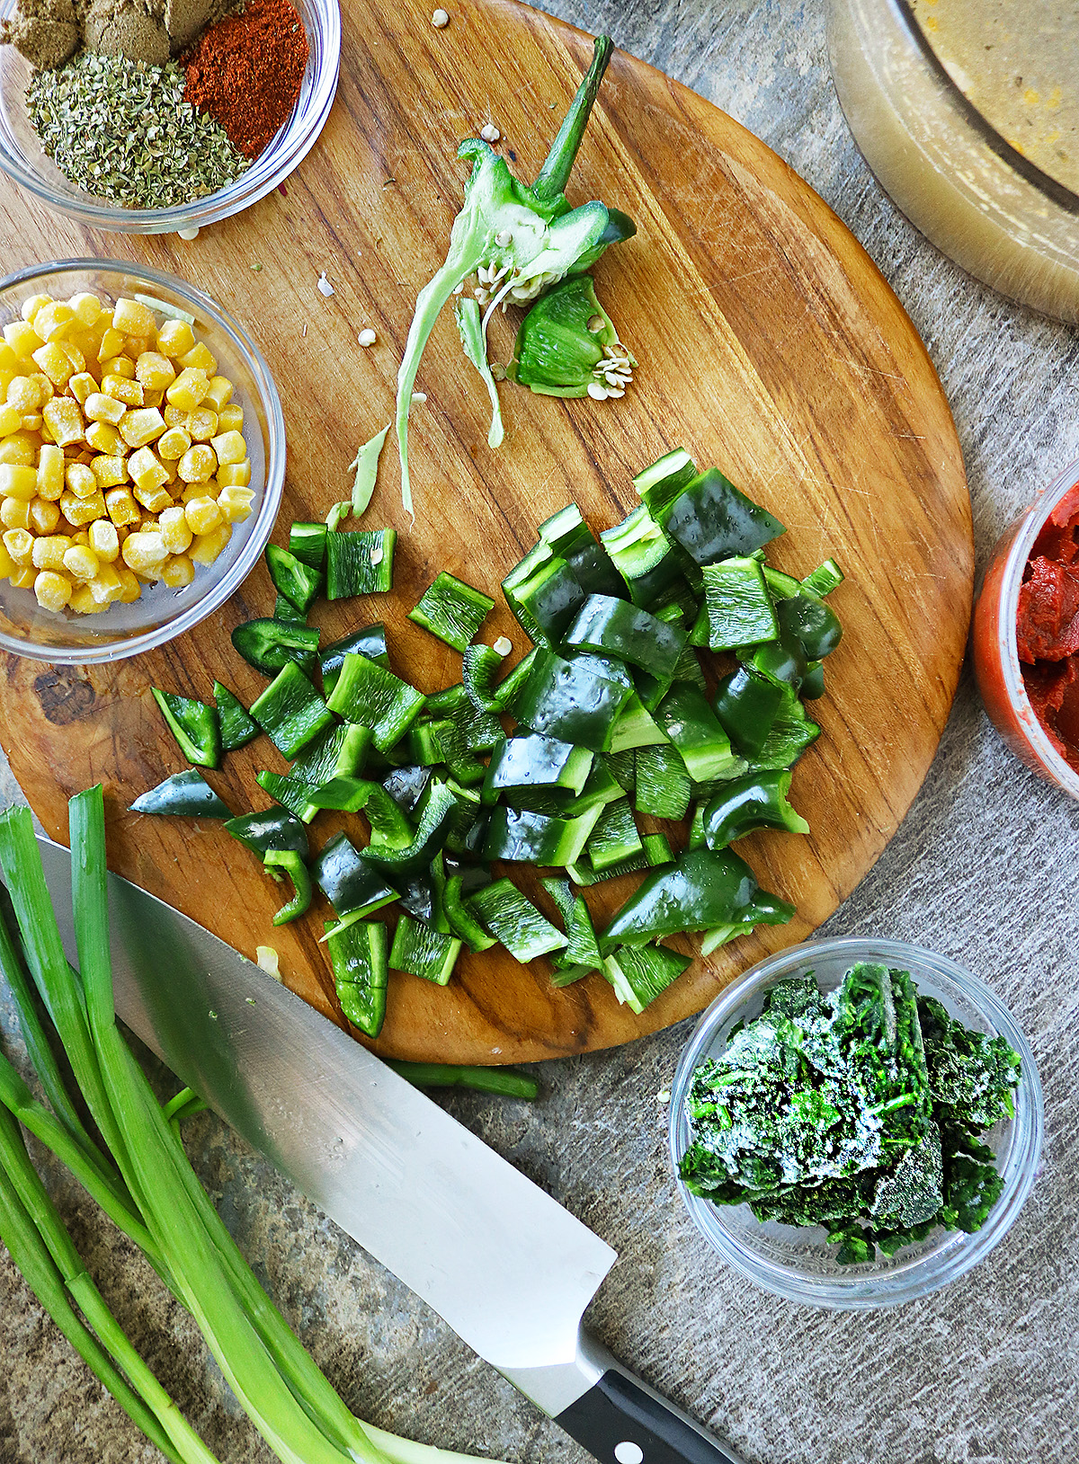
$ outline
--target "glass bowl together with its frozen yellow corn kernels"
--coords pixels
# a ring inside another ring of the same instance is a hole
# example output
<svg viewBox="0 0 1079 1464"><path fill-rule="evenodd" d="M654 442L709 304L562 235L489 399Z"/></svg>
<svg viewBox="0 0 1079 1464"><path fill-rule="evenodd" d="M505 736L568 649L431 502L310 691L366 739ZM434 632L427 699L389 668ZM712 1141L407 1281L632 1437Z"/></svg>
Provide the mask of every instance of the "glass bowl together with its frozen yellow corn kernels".
<svg viewBox="0 0 1079 1464"><path fill-rule="evenodd" d="M157 269L72 259L0 281L0 650L119 660L242 584L284 488L255 343Z"/></svg>

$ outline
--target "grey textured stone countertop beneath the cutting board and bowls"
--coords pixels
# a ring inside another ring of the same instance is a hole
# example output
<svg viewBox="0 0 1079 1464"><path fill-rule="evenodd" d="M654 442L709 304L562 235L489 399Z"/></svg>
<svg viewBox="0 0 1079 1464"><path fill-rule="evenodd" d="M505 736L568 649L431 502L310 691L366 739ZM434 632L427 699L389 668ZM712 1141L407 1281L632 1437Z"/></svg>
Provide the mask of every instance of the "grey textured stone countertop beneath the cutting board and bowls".
<svg viewBox="0 0 1079 1464"><path fill-rule="evenodd" d="M839 212L925 340L966 457L979 567L1034 490L1079 457L1079 337L991 294L896 212L829 79L823 0L549 0L548 9L687 82L769 142ZM1056 1464L1079 1455L1079 807L997 742L965 672L940 751L883 858L823 934L931 946L1010 1006L1045 1088L1038 1184L974 1272L922 1301L837 1313L723 1268L676 1199L657 1092L690 1025L549 1063L534 1108L454 1111L618 1247L591 1325L747 1464ZM0 1022L16 1047L10 1004ZM209 1116L190 1149L224 1217L365 1419L442 1446L584 1460L411 1293ZM193 1323L76 1187L53 1176L102 1291L206 1444L269 1451ZM151 1464L0 1255L0 1461Z"/></svg>

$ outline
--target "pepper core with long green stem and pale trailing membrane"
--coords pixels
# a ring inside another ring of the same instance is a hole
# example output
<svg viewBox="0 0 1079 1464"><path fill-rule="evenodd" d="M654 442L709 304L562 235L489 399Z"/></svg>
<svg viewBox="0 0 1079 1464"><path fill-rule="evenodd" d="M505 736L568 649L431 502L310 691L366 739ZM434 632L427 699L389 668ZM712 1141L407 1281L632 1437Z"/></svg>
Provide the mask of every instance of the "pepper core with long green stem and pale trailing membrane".
<svg viewBox="0 0 1079 1464"><path fill-rule="evenodd" d="M482 287L490 291L490 302L480 322L479 341L486 356L486 321L502 300L521 305L568 274L583 274L608 244L628 239L635 231L632 220L603 203L583 203L570 209L564 192L611 50L609 37L596 40L591 66L531 187L518 182L505 160L486 142L470 138L457 149L458 157L471 158L474 164L464 186L464 206L454 220L445 262L419 293L397 373L401 501L408 512L413 511L408 483L408 408L413 386L428 337L457 287L479 269L483 269L483 278L489 281Z"/></svg>

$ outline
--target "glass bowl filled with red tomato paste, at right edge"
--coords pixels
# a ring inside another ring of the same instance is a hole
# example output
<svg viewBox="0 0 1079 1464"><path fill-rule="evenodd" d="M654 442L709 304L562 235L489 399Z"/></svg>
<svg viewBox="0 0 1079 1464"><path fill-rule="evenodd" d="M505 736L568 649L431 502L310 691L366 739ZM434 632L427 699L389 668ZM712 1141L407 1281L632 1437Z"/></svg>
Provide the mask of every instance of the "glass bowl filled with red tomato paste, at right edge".
<svg viewBox="0 0 1079 1464"><path fill-rule="evenodd" d="M974 609L972 653L1000 736L1079 799L1079 463L997 542Z"/></svg>

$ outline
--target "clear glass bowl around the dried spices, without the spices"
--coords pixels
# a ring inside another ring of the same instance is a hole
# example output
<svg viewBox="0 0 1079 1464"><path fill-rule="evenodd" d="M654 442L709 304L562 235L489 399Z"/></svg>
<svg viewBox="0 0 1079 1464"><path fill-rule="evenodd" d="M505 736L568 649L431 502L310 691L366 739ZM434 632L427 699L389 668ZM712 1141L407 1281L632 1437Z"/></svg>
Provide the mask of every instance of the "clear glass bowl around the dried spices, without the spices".
<svg viewBox="0 0 1079 1464"><path fill-rule="evenodd" d="M0 16L12 16L18 0L0 0ZM228 187L177 208L122 208L69 183L45 157L26 116L29 63L13 45L0 47L0 168L50 208L91 228L124 234L167 234L202 228L239 214L275 189L310 152L322 132L341 69L338 0L293 0L307 32L307 69L299 101L269 146Z"/></svg>

